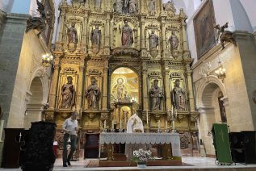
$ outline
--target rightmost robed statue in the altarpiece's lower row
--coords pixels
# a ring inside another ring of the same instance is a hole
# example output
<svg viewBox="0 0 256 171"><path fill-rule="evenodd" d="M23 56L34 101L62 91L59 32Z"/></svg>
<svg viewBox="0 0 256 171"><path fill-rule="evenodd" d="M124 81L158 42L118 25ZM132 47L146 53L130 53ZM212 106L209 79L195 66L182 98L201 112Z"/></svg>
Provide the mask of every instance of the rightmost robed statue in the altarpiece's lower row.
<svg viewBox="0 0 256 171"><path fill-rule="evenodd" d="M179 79L174 82L174 89L172 91L172 98L174 108L178 111L185 110L185 91L179 87Z"/></svg>

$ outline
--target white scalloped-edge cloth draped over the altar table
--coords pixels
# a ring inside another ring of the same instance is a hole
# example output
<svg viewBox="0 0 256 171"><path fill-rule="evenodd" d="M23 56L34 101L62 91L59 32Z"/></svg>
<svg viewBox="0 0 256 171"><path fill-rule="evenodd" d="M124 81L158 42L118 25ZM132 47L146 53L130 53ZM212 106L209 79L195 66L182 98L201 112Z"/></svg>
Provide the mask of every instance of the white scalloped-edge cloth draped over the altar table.
<svg viewBox="0 0 256 171"><path fill-rule="evenodd" d="M178 133L115 133L102 132L99 144L171 144L173 156L181 156Z"/></svg>

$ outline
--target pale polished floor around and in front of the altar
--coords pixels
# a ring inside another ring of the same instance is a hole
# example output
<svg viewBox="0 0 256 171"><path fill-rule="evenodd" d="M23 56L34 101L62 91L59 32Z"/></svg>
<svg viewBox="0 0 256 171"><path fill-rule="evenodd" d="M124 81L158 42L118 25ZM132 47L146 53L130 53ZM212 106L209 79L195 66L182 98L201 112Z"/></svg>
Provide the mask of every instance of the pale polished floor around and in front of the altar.
<svg viewBox="0 0 256 171"><path fill-rule="evenodd" d="M90 161L94 161L98 159L81 159L80 161L71 161L71 165L68 168L62 167L62 161L61 159L57 159L57 161L54 164L53 171L65 171L65 170L74 170L74 171L97 171L97 170L143 170L138 169L136 167L108 167L108 168L86 168L86 165ZM186 164L190 164L193 166L147 166L146 170L165 170L165 169L183 169L183 170L195 170L195 169L232 169L232 170L238 170L241 168L246 168L244 170L255 170L256 171L256 165L215 165L215 159L214 158L208 158L208 157L191 157L191 156L183 156L183 162ZM253 169L251 169L253 168ZM10 170L10 171L20 171L21 169L0 169L0 170Z"/></svg>

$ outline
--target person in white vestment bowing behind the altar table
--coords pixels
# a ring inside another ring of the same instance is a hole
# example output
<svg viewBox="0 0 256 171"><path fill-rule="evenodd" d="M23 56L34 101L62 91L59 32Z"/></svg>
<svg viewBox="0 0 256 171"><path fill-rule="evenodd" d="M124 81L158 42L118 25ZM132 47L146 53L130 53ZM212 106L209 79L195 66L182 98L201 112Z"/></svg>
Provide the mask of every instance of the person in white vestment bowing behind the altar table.
<svg viewBox="0 0 256 171"><path fill-rule="evenodd" d="M144 127L142 120L136 113L134 113L127 122L126 127L127 133L135 133L135 132L143 132L144 133ZM125 144L125 155L127 156L127 159L130 160L132 157L133 150L138 150L139 148L145 149L145 144Z"/></svg>

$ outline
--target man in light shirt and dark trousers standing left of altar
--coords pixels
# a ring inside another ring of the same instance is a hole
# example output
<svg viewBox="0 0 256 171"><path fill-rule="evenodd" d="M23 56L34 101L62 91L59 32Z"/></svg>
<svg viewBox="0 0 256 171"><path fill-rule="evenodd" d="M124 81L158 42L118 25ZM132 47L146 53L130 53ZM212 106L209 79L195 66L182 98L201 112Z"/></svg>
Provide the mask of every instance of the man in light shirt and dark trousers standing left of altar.
<svg viewBox="0 0 256 171"><path fill-rule="evenodd" d="M77 144L77 132L78 132L78 121L77 121L78 113L73 111L70 118L65 119L62 130L65 132L63 137L63 167L68 167L70 164L70 159L73 156L73 152L76 150ZM68 140L71 140L71 149L69 152L69 156L67 156L67 144ZM67 165L68 164L68 165Z"/></svg>

